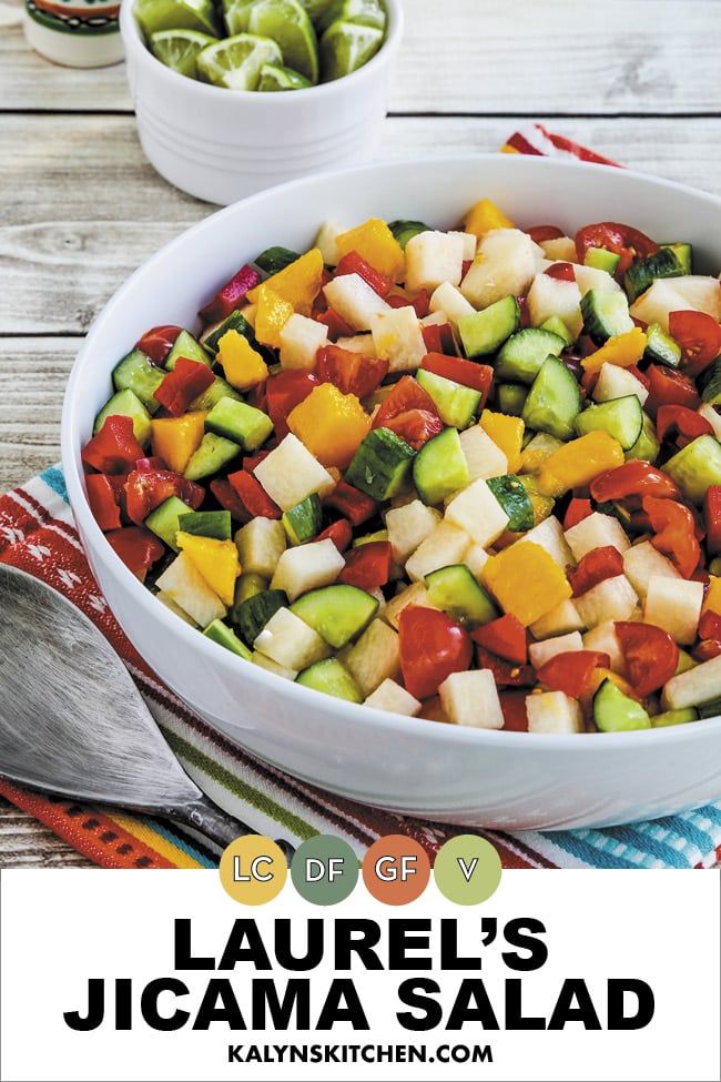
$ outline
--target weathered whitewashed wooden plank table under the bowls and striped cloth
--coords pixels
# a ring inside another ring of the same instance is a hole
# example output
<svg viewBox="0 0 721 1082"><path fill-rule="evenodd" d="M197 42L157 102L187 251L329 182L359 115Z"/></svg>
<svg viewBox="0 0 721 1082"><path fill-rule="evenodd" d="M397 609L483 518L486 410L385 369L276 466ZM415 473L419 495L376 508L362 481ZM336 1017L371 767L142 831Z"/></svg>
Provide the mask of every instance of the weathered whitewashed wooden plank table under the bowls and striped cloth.
<svg viewBox="0 0 721 1082"><path fill-rule="evenodd" d="M405 7L384 158L495 150L541 120L721 192L718 0ZM0 491L58 459L65 377L95 313L212 211L143 158L122 65L53 67L7 26L14 13L0 0ZM0 807L0 866L71 863L84 860Z"/></svg>

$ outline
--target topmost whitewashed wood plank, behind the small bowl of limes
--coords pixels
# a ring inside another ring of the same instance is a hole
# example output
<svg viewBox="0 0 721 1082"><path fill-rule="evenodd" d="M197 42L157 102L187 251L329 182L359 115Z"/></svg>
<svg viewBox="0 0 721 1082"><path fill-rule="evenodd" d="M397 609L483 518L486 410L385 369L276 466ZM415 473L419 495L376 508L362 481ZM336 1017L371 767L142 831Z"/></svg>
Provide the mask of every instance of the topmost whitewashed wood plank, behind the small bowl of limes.
<svg viewBox="0 0 721 1082"><path fill-rule="evenodd" d="M718 111L715 0L407 0L392 109L402 112ZM116 110L122 65L77 71L0 37L0 107Z"/></svg>

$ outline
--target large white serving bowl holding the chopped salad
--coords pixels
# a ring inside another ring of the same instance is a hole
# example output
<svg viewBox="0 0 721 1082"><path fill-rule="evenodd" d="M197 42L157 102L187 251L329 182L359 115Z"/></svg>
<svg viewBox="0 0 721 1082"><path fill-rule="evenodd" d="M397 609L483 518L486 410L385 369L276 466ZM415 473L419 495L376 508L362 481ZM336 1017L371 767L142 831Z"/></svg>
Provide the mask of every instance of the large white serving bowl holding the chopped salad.
<svg viewBox="0 0 721 1082"><path fill-rule="evenodd" d="M110 372L149 326L193 326L237 266L272 244L303 251L322 221L370 215L453 226L481 195L522 225L572 231L626 221L693 242L718 271L721 200L621 169L494 154L308 178L187 230L118 291L72 370L62 418L70 500L92 568L128 636L170 687L263 759L357 800L506 829L601 826L721 796L721 718L650 731L542 736L464 729L343 702L238 661L173 616L106 543L85 498L80 449ZM713 259L712 259L713 255ZM721 690L721 689L720 689Z"/></svg>

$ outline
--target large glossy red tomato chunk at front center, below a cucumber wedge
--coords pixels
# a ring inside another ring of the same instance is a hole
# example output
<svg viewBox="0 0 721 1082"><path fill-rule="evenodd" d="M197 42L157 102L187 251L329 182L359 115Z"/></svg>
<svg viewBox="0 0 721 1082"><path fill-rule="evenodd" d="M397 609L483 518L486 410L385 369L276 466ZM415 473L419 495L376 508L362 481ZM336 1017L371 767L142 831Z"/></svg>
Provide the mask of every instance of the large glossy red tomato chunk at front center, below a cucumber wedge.
<svg viewBox="0 0 721 1082"><path fill-rule="evenodd" d="M400 669L406 689L429 699L451 673L465 673L473 646L456 620L435 608L407 605L398 620Z"/></svg>

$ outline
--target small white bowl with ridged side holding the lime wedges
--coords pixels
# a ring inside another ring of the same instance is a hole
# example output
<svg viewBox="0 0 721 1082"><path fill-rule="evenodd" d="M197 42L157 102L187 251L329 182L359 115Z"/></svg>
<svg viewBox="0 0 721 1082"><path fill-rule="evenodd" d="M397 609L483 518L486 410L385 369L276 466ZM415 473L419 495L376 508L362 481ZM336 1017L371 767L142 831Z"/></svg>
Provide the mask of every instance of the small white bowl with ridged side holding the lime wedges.
<svg viewBox="0 0 721 1082"><path fill-rule="evenodd" d="M145 154L171 184L211 203L322 169L368 161L386 114L393 61L403 34L399 0L384 0L386 39L358 71L306 90L225 90L177 74L145 47L120 9L130 92Z"/></svg>

